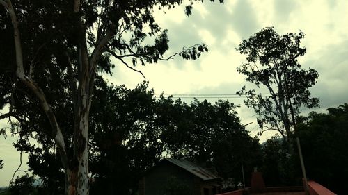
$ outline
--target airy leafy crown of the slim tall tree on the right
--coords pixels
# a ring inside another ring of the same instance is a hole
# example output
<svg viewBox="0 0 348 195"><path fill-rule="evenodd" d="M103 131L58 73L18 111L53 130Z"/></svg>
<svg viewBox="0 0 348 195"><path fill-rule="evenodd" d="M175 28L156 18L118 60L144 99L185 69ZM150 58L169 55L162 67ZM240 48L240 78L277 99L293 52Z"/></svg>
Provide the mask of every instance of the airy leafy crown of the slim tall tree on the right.
<svg viewBox="0 0 348 195"><path fill-rule="evenodd" d="M300 46L303 37L301 31L279 35L274 28L263 28L237 47L246 55L246 62L237 68L239 74L269 93L257 94L245 86L237 92L247 97L244 103L258 115L260 133L277 130L285 139L292 137L299 108L319 106L319 99L312 98L308 90L315 85L318 73L301 69L297 60L306 53L306 48Z"/></svg>

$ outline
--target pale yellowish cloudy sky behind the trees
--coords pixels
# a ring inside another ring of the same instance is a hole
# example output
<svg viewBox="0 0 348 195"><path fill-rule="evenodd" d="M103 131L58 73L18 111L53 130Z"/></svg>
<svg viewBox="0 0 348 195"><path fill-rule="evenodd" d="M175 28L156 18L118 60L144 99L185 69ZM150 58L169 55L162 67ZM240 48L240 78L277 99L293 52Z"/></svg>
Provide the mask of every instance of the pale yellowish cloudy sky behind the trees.
<svg viewBox="0 0 348 195"><path fill-rule="evenodd" d="M206 0L193 6L190 17L184 15L184 6L165 12L156 10L157 23L168 29L170 49L165 56L198 43L207 44L209 52L195 61L177 56L136 69L143 72L155 94L235 94L247 84L244 76L236 71L245 62L245 56L235 50L243 39L268 26L274 26L280 35L301 30L305 33L302 46L306 46L307 53L299 58L299 62L303 69L312 68L319 72L319 79L310 92L320 99L321 107L315 111L325 112L327 108L348 103L347 8L348 1L345 0L225 0L223 4ZM113 62L116 64L114 74L106 76L109 83L132 88L143 81L141 74ZM208 100L214 102L217 99ZM243 99L228 100L241 105L237 112L243 124L253 122L246 126L246 130L254 137L260 129L253 110L244 106ZM310 110L302 111L308 113ZM8 126L5 120L0 121L0 127L3 126ZM272 135L265 134L260 140ZM5 167L0 169L0 186L8 185L19 165L19 153L11 144L13 140L15 138L5 140L0 137L0 159L5 162ZM22 169L27 169L25 159L26 155Z"/></svg>

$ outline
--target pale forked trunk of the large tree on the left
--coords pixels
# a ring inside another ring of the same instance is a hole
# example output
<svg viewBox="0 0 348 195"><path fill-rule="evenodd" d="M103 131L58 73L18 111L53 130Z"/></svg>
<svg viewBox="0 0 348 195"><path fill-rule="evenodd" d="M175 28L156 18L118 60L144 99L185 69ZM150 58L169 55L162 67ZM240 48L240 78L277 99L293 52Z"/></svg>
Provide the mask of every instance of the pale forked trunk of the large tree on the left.
<svg viewBox="0 0 348 195"><path fill-rule="evenodd" d="M74 0L74 12L79 12L80 0ZM61 157L61 162L65 169L65 193L68 195L88 195L89 194L89 178L88 178L88 124L89 124L89 110L91 103L91 94L93 89L93 82L95 77L95 71L97 61L102 55L103 49L107 42L111 39L114 26L111 25L106 34L100 38L97 42L91 58L89 60L88 50L86 46L86 33L84 31L84 25L80 28L79 40L79 87L77 90L77 100L74 99L74 104L77 105L77 109L74 109L75 113L75 124L74 124L74 137L73 137L73 155L68 156L66 153L66 146L64 137L61 132L61 128L56 121L54 112L49 105L45 94L41 88L34 83L31 76L26 76L24 72L23 56L22 56L22 43L19 32L19 22L15 15L15 10L10 0L0 0L0 4L8 10L13 23L14 38L15 38L15 54L17 70L16 76L22 81L29 89L35 94L40 101L42 110L47 115L49 123L51 124L52 131L54 133L54 141L58 146L58 153ZM81 21L80 21L81 22ZM76 87L76 85L74 86ZM74 90L74 89L72 89ZM47 135L49 136L49 135Z"/></svg>

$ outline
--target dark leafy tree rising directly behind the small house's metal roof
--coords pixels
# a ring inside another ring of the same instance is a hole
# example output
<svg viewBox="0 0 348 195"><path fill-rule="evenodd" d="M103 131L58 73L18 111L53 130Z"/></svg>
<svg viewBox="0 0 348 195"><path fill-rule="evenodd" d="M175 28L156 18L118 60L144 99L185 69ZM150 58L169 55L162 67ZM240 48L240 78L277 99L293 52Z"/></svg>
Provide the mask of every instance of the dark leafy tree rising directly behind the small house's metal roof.
<svg viewBox="0 0 348 195"><path fill-rule="evenodd" d="M189 105L180 100L167 105L164 114L159 115L169 121L161 134L167 154L189 158L223 178L239 181L242 164L246 173L258 164L258 140L248 135L233 103L195 99Z"/></svg>

